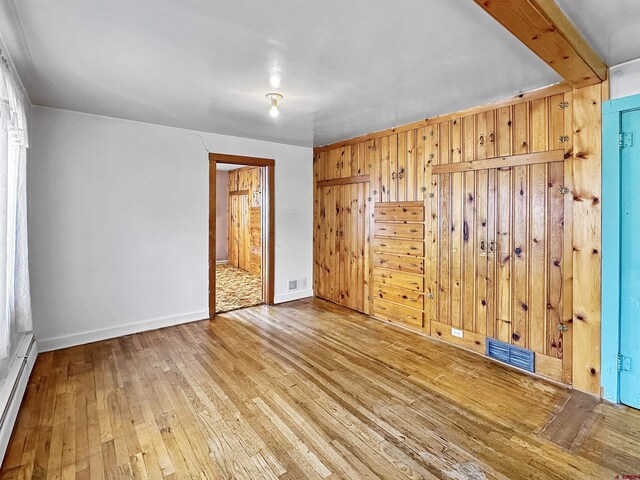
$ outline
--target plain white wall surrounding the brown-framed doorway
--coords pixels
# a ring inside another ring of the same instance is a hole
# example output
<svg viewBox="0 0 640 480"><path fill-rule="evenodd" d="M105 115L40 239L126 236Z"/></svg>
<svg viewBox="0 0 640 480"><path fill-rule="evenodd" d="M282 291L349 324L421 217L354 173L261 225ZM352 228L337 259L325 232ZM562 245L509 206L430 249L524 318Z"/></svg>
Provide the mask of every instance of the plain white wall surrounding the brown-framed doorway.
<svg viewBox="0 0 640 480"><path fill-rule="evenodd" d="M203 133L274 158L275 300L312 276L312 149ZM208 158L176 128L34 107L29 239L43 349L207 318Z"/></svg>

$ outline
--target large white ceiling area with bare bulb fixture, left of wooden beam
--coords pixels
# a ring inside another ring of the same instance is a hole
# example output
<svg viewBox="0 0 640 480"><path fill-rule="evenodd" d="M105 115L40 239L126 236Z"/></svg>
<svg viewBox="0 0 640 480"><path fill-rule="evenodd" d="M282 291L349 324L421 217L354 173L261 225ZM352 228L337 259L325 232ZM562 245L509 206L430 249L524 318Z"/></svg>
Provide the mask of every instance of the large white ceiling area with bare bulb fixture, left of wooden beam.
<svg viewBox="0 0 640 480"><path fill-rule="evenodd" d="M2 0L0 32L36 105L307 146L560 80L471 0Z"/></svg>

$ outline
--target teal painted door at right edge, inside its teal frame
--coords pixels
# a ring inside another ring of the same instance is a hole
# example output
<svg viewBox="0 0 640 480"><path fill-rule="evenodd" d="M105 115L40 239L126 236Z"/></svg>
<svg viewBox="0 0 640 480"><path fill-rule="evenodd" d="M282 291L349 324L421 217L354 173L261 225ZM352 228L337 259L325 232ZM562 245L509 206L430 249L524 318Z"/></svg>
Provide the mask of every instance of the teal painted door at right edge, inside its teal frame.
<svg viewBox="0 0 640 480"><path fill-rule="evenodd" d="M640 408L640 110L622 113L622 132L620 401Z"/></svg>

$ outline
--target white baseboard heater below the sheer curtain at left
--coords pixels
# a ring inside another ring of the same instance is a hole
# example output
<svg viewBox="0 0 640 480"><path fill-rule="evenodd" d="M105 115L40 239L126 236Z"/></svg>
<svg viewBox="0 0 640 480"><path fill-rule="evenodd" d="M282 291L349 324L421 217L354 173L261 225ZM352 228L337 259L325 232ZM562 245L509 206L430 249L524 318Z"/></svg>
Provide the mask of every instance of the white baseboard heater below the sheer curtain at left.
<svg viewBox="0 0 640 480"><path fill-rule="evenodd" d="M22 397L27 390L29 375L31 375L37 356L38 345L35 337L32 333L28 333L20 342L16 358L9 368L2 388L0 388L0 463L7 451L13 426L18 418Z"/></svg>

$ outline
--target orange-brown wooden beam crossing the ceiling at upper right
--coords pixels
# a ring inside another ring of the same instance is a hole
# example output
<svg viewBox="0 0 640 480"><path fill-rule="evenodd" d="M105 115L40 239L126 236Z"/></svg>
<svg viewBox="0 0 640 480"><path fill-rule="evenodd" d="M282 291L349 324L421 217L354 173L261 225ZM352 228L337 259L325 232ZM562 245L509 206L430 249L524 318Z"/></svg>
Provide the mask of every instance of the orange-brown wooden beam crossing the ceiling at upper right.
<svg viewBox="0 0 640 480"><path fill-rule="evenodd" d="M474 0L575 88L607 79L607 65L554 0Z"/></svg>

